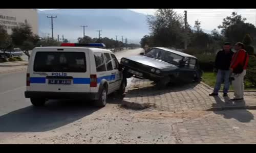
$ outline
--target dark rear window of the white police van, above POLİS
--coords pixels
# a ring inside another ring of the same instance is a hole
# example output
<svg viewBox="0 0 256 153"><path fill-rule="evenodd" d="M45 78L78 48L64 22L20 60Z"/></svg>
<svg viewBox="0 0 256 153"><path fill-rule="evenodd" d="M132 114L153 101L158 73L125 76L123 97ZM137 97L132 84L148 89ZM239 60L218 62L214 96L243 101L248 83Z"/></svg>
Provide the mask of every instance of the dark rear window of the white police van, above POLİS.
<svg viewBox="0 0 256 153"><path fill-rule="evenodd" d="M37 52L35 72L86 72L86 55L82 52Z"/></svg>

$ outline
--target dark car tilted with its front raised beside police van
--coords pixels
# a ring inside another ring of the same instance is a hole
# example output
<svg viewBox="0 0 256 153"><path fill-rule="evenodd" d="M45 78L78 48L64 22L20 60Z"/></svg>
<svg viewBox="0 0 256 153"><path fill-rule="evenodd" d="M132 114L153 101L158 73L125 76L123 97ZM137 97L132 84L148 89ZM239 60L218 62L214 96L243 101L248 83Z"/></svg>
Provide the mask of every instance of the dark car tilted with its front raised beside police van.
<svg viewBox="0 0 256 153"><path fill-rule="evenodd" d="M200 82L202 76L196 57L164 47L154 47L146 54L122 58L121 65L124 77L149 79L160 86L170 82Z"/></svg>

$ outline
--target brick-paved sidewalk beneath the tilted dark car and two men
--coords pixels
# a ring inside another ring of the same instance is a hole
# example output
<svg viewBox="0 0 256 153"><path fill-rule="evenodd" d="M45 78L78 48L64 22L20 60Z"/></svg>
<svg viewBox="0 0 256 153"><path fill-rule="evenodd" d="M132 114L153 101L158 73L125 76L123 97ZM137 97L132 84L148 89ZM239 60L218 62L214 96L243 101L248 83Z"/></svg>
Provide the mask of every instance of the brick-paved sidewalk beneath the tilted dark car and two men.
<svg viewBox="0 0 256 153"><path fill-rule="evenodd" d="M256 108L256 92L246 92L244 101L234 103L222 95L218 97L208 96L212 89L207 88L202 83L175 85L158 90L151 81L132 78L127 90L125 101L149 103L161 111ZM229 93L229 97L233 97L233 93Z"/></svg>

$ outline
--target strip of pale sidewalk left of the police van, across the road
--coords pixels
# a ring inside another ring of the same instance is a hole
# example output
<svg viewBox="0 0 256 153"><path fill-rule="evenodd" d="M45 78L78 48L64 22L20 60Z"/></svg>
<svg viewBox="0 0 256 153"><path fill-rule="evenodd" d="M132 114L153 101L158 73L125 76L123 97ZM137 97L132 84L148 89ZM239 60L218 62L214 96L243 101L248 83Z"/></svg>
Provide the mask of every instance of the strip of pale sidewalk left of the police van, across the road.
<svg viewBox="0 0 256 153"><path fill-rule="evenodd" d="M0 63L0 74L27 70L27 61Z"/></svg>

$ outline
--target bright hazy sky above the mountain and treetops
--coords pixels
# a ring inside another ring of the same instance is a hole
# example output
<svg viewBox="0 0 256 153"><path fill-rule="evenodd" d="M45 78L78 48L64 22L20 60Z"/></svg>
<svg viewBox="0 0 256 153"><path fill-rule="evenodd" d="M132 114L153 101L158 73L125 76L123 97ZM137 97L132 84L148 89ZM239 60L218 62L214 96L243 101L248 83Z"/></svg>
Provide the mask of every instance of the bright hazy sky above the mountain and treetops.
<svg viewBox="0 0 256 153"><path fill-rule="evenodd" d="M48 10L48 9L38 9ZM155 9L130 9L143 14L154 15ZM187 21L191 27L194 27L195 20L201 21L201 28L205 32L210 32L213 29L218 30L218 25L222 23L223 18L230 16L232 12L238 12L242 17L247 18L246 22L255 25L256 22L256 9L174 9L180 14L187 11Z"/></svg>

